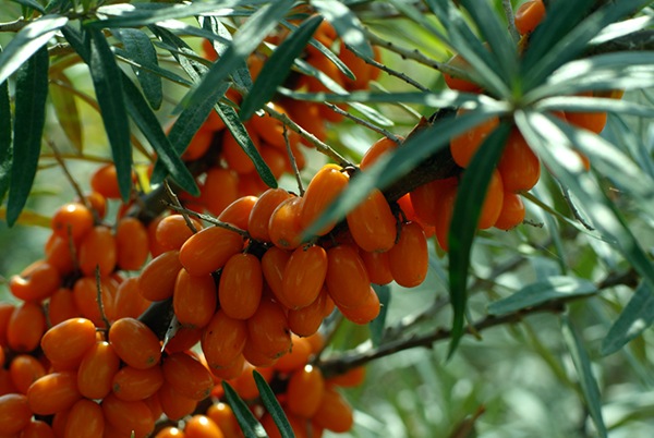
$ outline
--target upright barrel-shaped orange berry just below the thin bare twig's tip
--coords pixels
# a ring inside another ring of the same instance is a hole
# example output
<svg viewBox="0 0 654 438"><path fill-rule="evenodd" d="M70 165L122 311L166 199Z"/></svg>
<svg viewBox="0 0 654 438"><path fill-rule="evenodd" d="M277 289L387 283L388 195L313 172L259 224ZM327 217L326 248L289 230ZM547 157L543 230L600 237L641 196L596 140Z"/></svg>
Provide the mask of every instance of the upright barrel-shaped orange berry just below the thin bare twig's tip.
<svg viewBox="0 0 654 438"><path fill-rule="evenodd" d="M218 287L220 307L231 318L247 319L258 307L263 288L259 259L253 254L235 254L222 268Z"/></svg>

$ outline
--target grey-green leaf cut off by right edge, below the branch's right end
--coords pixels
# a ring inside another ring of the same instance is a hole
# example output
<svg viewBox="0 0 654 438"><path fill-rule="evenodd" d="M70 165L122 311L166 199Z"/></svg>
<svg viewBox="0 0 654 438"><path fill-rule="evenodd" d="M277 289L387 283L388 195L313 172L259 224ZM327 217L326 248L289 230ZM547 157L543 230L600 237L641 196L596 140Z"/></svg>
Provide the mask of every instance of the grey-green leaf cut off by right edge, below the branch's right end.
<svg viewBox="0 0 654 438"><path fill-rule="evenodd" d="M608 356L617 352L640 336L652 323L654 323L654 291L643 281L606 333L600 353Z"/></svg>

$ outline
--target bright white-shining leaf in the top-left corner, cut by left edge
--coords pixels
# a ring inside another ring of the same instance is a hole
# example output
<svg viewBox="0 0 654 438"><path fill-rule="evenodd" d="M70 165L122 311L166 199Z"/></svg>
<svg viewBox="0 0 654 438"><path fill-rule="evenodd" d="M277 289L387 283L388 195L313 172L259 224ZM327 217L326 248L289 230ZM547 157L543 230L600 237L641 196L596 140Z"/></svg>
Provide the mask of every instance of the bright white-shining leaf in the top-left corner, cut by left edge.
<svg viewBox="0 0 654 438"><path fill-rule="evenodd" d="M65 16L47 15L39 17L21 29L0 53L0 83L48 42L68 23Z"/></svg>

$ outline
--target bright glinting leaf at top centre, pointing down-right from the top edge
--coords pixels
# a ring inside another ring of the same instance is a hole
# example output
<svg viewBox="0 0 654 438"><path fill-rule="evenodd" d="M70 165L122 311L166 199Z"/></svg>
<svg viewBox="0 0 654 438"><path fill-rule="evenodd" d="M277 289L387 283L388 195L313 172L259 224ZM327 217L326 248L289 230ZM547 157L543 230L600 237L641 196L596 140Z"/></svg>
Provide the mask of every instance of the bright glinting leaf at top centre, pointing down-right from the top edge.
<svg viewBox="0 0 654 438"><path fill-rule="evenodd" d="M343 41L363 54L373 57L373 50L361 28L361 22L347 5L337 0L313 0L311 4L331 23Z"/></svg>

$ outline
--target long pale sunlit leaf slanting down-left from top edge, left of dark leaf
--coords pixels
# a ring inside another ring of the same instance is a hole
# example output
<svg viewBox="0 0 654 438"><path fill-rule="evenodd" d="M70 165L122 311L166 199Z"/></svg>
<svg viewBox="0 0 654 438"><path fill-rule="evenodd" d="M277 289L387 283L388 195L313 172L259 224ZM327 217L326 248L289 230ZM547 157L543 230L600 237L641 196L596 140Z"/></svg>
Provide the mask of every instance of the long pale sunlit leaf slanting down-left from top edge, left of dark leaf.
<svg viewBox="0 0 654 438"><path fill-rule="evenodd" d="M184 97L180 107L197 104L204 96L219 86L256 49L292 4L292 0L280 0L255 12L239 28L232 44L203 76L197 87Z"/></svg>

